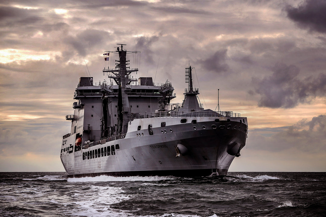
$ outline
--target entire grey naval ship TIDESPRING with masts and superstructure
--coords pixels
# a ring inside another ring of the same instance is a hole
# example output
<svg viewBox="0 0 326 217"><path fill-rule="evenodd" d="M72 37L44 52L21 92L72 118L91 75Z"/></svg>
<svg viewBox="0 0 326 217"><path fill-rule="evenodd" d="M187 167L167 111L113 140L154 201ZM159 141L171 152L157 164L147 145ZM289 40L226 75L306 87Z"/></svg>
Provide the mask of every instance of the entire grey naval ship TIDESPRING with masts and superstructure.
<svg viewBox="0 0 326 217"><path fill-rule="evenodd" d="M71 130L61 144L68 176L227 175L245 146L247 118L204 109L191 66L185 68L188 88L182 104L170 103L175 98L171 83L133 79L138 69L128 67L126 55L136 52L118 45L104 54L119 56L114 69L103 70L115 83L79 79L74 114L66 115Z"/></svg>

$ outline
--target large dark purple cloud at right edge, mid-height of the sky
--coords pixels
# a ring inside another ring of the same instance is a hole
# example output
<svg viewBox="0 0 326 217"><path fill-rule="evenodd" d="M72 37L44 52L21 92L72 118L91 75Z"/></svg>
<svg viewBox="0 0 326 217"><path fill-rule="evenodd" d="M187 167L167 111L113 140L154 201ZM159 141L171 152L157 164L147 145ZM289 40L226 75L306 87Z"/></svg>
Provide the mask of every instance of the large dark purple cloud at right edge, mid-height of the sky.
<svg viewBox="0 0 326 217"><path fill-rule="evenodd" d="M316 96L326 96L326 75L299 79L295 65L275 64L273 74L263 79L253 78L255 92L260 95L258 105L270 108L293 108L298 103L309 102ZM249 94L253 94L252 91Z"/></svg>

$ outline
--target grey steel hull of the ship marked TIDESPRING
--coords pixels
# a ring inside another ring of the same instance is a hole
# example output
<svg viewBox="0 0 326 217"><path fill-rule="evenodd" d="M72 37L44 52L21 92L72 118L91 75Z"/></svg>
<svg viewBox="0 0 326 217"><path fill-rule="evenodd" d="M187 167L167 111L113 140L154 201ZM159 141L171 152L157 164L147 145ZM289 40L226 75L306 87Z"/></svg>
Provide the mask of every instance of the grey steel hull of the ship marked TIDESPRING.
<svg viewBox="0 0 326 217"><path fill-rule="evenodd" d="M216 117L196 117L186 118L182 124L181 119L134 119L129 122L125 138L63 153L62 163L69 177L227 175L232 160L245 145L246 118L220 117L216 122ZM166 126L161 127L162 122ZM153 135L147 129L149 125L153 126ZM73 135L66 139L68 143L73 140ZM118 149L108 152L112 146ZM105 149L107 152L103 154ZM101 154L93 156L94 150L100 150Z"/></svg>

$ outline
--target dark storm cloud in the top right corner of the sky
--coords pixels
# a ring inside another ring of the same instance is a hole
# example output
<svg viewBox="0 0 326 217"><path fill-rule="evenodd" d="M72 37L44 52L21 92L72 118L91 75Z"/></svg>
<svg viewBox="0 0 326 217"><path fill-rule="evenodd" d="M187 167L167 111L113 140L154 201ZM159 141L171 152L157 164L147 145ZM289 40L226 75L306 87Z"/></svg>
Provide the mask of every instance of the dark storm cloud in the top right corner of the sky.
<svg viewBox="0 0 326 217"><path fill-rule="evenodd" d="M288 17L301 28L326 32L326 1L306 0L299 7L287 6Z"/></svg>

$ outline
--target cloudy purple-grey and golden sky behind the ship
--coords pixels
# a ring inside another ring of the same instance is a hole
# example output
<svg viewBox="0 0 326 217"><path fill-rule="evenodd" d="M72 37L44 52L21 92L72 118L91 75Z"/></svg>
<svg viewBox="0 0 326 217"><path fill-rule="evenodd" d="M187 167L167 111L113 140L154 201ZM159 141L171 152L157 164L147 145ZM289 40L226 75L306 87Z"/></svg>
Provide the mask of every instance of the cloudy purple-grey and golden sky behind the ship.
<svg viewBox="0 0 326 217"><path fill-rule="evenodd" d="M229 171L325 171L325 0L0 1L0 171L64 171L85 62L103 81L117 43L141 51L137 76L172 82L174 102L190 61L205 108L219 88L221 110L248 118Z"/></svg>

